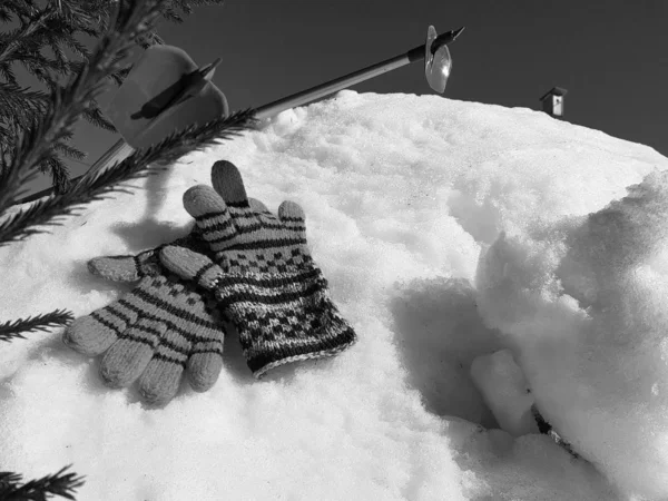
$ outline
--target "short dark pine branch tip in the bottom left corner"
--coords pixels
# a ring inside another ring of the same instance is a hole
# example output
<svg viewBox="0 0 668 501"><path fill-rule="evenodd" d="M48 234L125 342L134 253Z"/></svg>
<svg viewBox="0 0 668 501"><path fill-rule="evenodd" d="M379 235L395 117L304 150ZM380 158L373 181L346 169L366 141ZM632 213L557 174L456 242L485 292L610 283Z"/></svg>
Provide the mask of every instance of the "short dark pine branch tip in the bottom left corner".
<svg viewBox="0 0 668 501"><path fill-rule="evenodd" d="M30 480L19 487L21 475L12 472L0 472L0 499L3 501L46 501L51 495L75 500L76 489L84 485L85 477L76 473L65 473L71 464L62 468L58 473Z"/></svg>

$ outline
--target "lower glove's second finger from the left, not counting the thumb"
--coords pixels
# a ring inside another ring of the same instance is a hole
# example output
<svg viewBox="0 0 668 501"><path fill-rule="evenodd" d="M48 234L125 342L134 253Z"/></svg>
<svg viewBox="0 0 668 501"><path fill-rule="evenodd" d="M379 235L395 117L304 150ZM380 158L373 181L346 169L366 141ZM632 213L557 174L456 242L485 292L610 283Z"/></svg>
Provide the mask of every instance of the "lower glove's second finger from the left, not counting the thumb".
<svg viewBox="0 0 668 501"><path fill-rule="evenodd" d="M141 318L122 333L105 353L100 376L111 387L128 386L144 372L167 326L161 322Z"/></svg>

